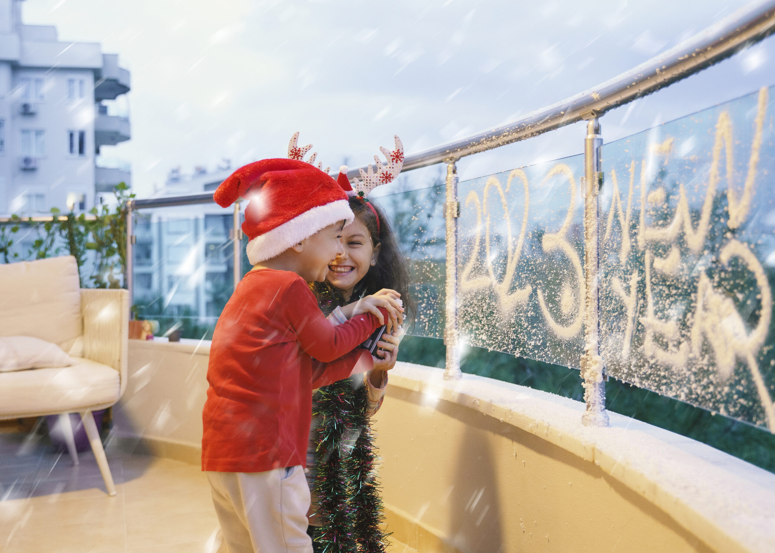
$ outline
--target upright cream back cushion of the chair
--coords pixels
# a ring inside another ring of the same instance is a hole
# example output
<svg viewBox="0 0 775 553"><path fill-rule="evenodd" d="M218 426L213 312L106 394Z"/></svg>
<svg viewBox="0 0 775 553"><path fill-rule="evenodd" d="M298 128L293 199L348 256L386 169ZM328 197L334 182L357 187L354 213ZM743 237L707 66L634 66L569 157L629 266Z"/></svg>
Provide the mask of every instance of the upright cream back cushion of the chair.
<svg viewBox="0 0 775 553"><path fill-rule="evenodd" d="M33 336L82 356L82 334L81 280L73 256L0 264L0 336Z"/></svg>

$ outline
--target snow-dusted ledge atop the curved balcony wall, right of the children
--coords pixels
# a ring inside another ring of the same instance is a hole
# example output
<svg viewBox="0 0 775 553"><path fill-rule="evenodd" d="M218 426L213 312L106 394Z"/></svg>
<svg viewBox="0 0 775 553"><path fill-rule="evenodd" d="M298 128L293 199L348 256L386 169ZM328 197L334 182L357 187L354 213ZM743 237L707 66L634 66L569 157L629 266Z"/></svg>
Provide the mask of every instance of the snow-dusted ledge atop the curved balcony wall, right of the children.
<svg viewBox="0 0 775 553"><path fill-rule="evenodd" d="M709 445L611 412L610 428L585 427L584 403L484 376L450 381L443 369L399 362L390 386L477 410L594 463L715 551L775 551L775 474Z"/></svg>

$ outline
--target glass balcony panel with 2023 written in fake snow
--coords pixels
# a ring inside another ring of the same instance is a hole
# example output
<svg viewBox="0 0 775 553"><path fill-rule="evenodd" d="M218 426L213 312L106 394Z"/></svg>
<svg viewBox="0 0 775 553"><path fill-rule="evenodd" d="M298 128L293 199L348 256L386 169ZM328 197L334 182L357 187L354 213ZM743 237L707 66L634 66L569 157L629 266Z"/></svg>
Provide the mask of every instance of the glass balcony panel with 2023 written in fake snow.
<svg viewBox="0 0 775 553"><path fill-rule="evenodd" d="M578 367L584 350L584 156L459 184L463 342Z"/></svg>

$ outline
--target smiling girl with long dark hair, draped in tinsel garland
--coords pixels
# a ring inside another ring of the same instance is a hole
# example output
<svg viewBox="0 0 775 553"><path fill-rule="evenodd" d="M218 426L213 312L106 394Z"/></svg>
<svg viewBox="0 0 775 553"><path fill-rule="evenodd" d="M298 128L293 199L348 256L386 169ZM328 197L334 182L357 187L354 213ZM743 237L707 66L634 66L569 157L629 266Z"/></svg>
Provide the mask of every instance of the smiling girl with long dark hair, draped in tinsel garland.
<svg viewBox="0 0 775 553"><path fill-rule="evenodd" d="M390 307L394 307L399 312L398 324L401 324L401 314L414 313L414 304L408 295L409 274L405 258L401 256L398 243L381 208L373 201L361 197L350 197L350 208L355 214L355 220L343 229L344 253L329 265L328 279L324 283L313 283L312 290L318 297L322 311L331 314L329 320L332 320L332 323L366 311L379 313L377 307L387 307L388 311L393 311ZM346 440L354 433L357 436L355 443L348 445L352 448L350 457L366 459L367 468L373 462L367 418L376 413L382 404L387 385L386 371L395 364L400 337L400 330L393 331L391 335L383 335L378 342L374 370L367 373L365 379L359 375L362 379L360 382L357 377L353 377L326 386L313 397L313 414L318 416L313 417L310 432L307 477L313 496L308 534L312 536L315 552L322 551L320 538L329 542L334 539L346 540L348 532L351 533L350 539L359 542L364 551L384 550L384 538L378 526L381 521L381 504L376 487L370 480L370 471L361 470L360 474L353 477L352 487L359 490L361 497L360 500L353 498L350 501L356 504L357 509L356 512L348 514L346 508L341 505L343 498L333 497L336 490L329 486L332 475L339 473L340 479L346 478L348 466L346 462L342 462L339 455L332 455L330 445L332 440L336 441L332 432L339 432L340 440ZM341 422L338 417L346 418L344 413L352 414L351 411L358 411L352 406L359 404L360 413L355 413L354 422L351 422L350 426L362 424L363 428L342 428L346 424L339 424L337 429L336 424L331 424L335 419L335 422ZM320 414L328 416L320 417ZM357 420L358 417L360 421ZM326 428L326 424L330 428ZM334 448L335 454L336 451L341 451L340 444ZM334 464L336 466L333 466ZM350 465L353 465L352 461ZM349 470L352 472L351 466ZM315 481L318 472L322 472L326 477ZM336 483L336 478L333 480ZM316 503L319 503L321 512L315 512ZM348 525L353 527L347 527Z"/></svg>

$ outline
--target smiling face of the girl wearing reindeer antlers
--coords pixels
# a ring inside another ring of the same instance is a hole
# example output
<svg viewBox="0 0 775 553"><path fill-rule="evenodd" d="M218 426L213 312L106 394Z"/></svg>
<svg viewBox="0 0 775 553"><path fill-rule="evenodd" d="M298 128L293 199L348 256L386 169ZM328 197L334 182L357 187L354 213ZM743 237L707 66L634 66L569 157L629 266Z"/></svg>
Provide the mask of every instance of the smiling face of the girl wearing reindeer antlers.
<svg viewBox="0 0 775 553"><path fill-rule="evenodd" d="M357 217L343 229L342 245L344 252L329 264L327 280L333 287L343 290L346 301L350 301L355 285L366 276L370 266L377 263L380 245L374 246L369 229Z"/></svg>

